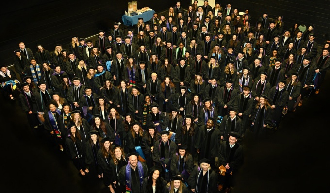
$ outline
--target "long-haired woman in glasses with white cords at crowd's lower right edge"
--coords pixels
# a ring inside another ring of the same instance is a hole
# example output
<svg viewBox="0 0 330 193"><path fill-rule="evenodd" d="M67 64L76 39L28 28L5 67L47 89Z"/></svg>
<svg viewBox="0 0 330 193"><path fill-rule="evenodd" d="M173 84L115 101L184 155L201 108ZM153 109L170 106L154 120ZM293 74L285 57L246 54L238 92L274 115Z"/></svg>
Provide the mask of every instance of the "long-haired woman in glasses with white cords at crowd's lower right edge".
<svg viewBox="0 0 330 193"><path fill-rule="evenodd" d="M272 109L268 102L268 97L260 95L258 103L251 113L251 129L255 140L268 137L267 125L272 125Z"/></svg>

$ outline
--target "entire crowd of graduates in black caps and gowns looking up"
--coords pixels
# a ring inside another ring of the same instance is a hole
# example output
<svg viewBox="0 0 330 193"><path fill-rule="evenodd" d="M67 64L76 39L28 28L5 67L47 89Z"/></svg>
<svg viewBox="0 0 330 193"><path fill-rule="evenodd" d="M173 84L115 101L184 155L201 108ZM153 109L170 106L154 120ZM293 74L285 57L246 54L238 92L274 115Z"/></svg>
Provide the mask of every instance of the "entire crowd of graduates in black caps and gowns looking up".
<svg viewBox="0 0 330 193"><path fill-rule="evenodd" d="M246 130L271 136L319 93L329 43L314 41L313 25L302 32L264 12L253 26L248 9L197 3L177 1L127 34L115 22L95 41L72 36L68 50L33 53L20 42L21 81L1 65L1 94L112 193L228 193Z"/></svg>

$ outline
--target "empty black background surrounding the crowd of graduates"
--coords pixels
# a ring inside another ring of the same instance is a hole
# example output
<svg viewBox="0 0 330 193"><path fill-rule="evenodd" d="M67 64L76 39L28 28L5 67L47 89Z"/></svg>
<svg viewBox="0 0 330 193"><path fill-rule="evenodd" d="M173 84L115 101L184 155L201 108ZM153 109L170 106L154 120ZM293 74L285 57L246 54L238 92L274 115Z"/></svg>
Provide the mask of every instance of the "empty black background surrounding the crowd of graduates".
<svg viewBox="0 0 330 193"><path fill-rule="evenodd" d="M19 42L36 51L42 44L53 51L72 35L90 37L121 21L128 1L32 0L9 1L1 9L1 63L13 63L13 51ZM221 1L224 6L227 1ZM329 32L330 3L326 0L231 0L239 11L250 9L252 23L266 10L269 17L282 14L286 27L294 20L315 25L316 41ZM157 12L168 10L175 1L138 1ZM188 1L181 1L187 7ZM318 95L304 100L296 112L288 113L271 138L255 143L251 133L244 139L245 163L239 171L235 193L326 192L328 190L329 152L329 75ZM0 106L0 165L2 192L109 193L101 180L81 177L63 152L46 148L32 134L17 101Z"/></svg>

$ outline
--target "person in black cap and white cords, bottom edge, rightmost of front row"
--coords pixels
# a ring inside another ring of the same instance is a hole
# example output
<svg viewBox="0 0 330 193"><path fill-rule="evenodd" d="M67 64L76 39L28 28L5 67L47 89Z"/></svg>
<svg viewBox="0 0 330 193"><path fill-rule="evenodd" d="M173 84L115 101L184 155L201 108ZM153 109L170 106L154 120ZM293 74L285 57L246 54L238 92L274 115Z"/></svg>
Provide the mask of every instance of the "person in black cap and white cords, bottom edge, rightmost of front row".
<svg viewBox="0 0 330 193"><path fill-rule="evenodd" d="M190 190L194 193L217 193L218 176L212 169L212 161L201 159L188 179Z"/></svg>

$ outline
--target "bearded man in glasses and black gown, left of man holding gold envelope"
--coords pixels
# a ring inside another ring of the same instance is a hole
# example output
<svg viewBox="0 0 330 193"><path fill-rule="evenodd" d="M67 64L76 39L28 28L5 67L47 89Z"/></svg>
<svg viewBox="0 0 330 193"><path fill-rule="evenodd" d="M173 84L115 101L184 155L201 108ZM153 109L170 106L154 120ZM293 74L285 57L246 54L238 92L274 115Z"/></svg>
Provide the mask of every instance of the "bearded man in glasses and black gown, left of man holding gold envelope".
<svg viewBox="0 0 330 193"><path fill-rule="evenodd" d="M221 142L220 130L215 128L216 120L213 117L207 119L206 125L199 128L199 134L196 141L198 163L203 158L210 160L211 168L215 166L215 158L218 156L218 150Z"/></svg>

